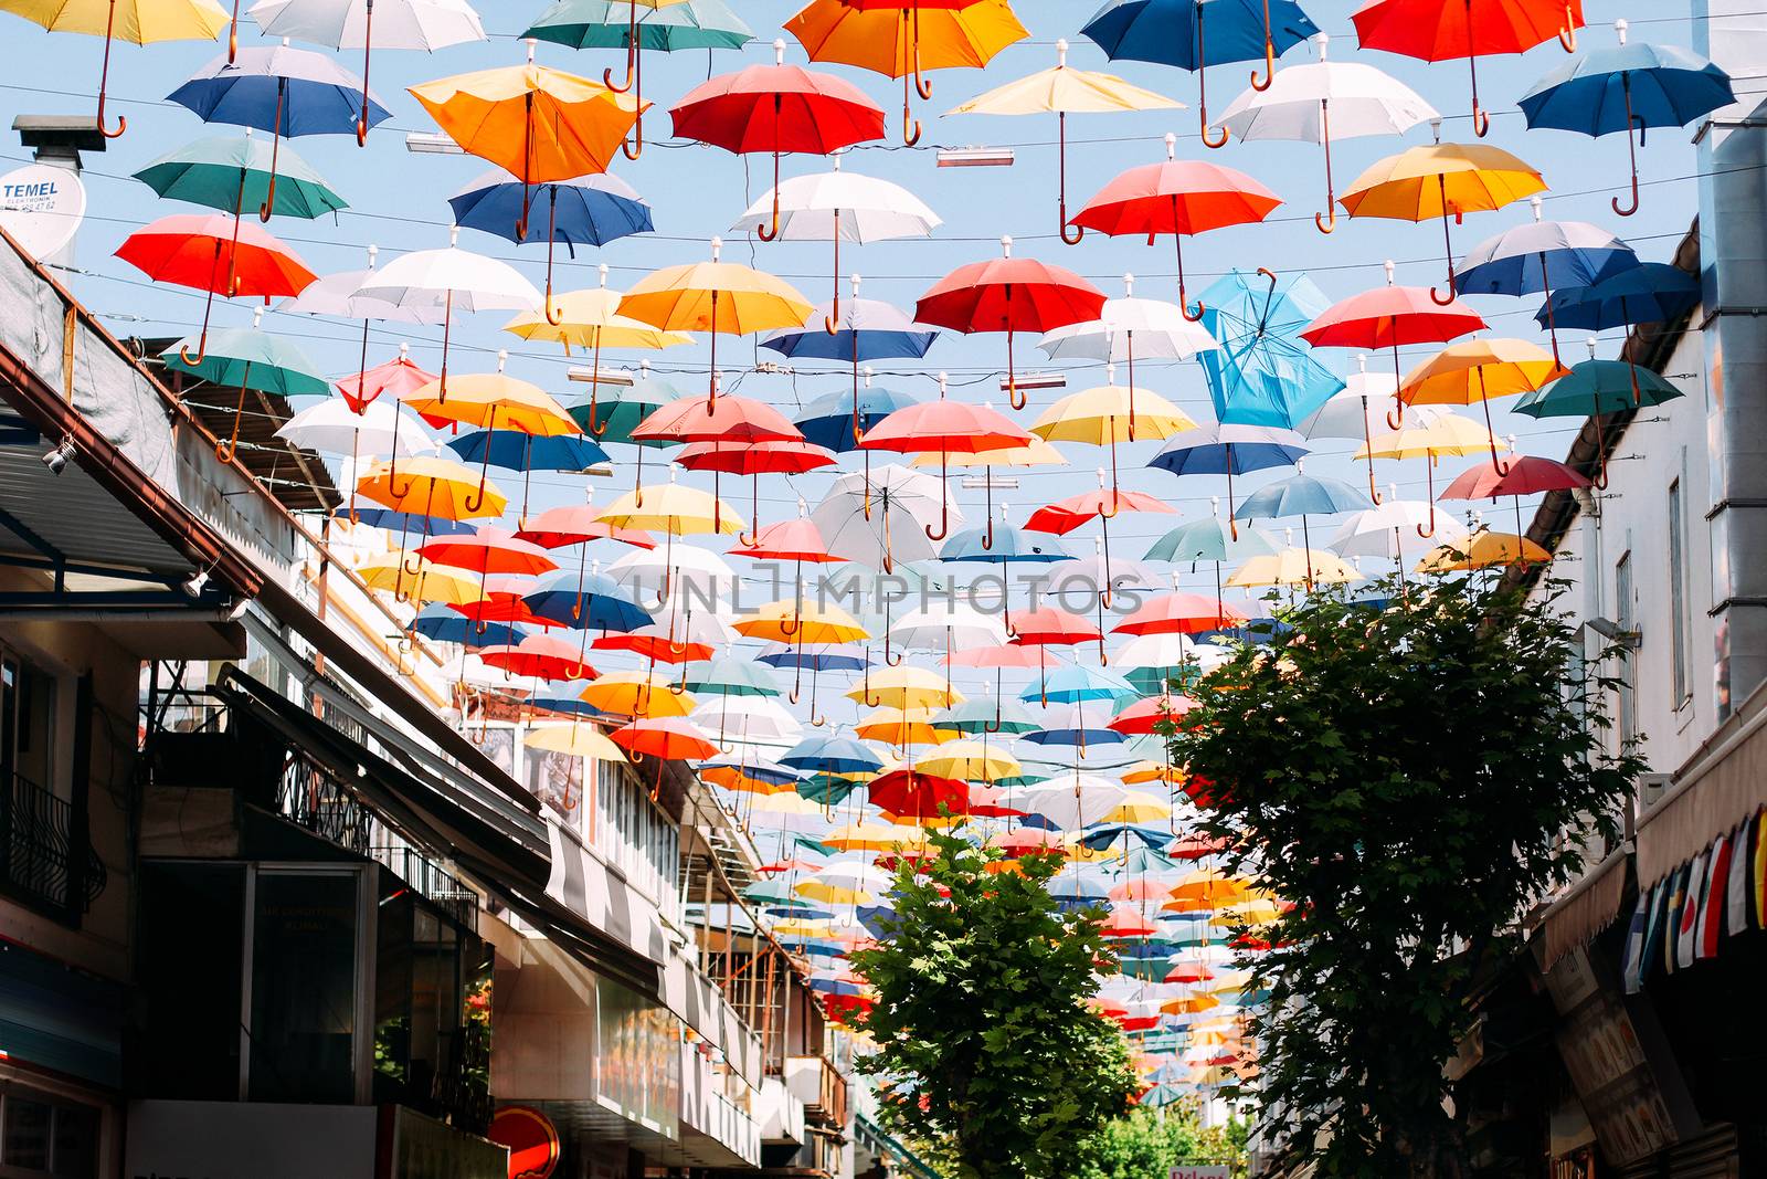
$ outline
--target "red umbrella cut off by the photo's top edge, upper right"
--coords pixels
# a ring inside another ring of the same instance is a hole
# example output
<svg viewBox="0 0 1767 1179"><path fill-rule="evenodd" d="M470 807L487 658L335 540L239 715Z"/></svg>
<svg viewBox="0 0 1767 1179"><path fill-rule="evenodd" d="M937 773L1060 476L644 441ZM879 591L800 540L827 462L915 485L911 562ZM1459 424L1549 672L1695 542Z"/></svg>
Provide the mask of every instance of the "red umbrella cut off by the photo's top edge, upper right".
<svg viewBox="0 0 1767 1179"><path fill-rule="evenodd" d="M1483 140L1491 120L1479 106L1479 58L1527 53L1553 37L1566 53L1576 53L1583 0L1369 0L1350 19L1364 49L1424 62L1467 58L1472 133Z"/></svg>

